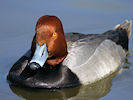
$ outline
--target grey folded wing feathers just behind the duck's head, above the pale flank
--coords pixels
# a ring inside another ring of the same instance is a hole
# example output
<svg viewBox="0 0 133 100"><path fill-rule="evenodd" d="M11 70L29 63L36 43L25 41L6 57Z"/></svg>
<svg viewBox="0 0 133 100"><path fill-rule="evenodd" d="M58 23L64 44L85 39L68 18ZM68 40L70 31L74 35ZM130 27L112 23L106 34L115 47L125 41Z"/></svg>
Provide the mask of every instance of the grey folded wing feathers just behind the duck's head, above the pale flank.
<svg viewBox="0 0 133 100"><path fill-rule="evenodd" d="M68 67L76 67L84 64L105 39L106 37L101 34L88 34L77 41L68 41L68 56L63 64Z"/></svg>

